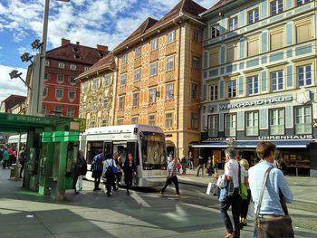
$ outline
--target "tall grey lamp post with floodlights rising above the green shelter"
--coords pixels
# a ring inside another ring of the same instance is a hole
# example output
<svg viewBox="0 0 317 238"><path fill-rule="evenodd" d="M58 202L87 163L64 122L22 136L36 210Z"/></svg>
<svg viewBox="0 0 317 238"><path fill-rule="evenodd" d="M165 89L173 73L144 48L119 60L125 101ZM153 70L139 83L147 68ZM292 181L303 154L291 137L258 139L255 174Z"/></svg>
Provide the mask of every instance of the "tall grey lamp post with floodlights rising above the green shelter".
<svg viewBox="0 0 317 238"><path fill-rule="evenodd" d="M61 2L69 2L70 0L56 0ZM42 115L42 104L43 104L43 78L45 69L45 58L46 58L46 43L47 43L47 27L48 27L48 16L49 16L49 5L50 0L45 0L44 12L43 12L43 34L42 43L39 40L35 40L32 43L32 47L37 49L41 48L40 53L36 53L34 60L34 73L33 73L33 89L34 92L31 94L30 105L28 108L29 115ZM40 46L38 46L40 44Z"/></svg>

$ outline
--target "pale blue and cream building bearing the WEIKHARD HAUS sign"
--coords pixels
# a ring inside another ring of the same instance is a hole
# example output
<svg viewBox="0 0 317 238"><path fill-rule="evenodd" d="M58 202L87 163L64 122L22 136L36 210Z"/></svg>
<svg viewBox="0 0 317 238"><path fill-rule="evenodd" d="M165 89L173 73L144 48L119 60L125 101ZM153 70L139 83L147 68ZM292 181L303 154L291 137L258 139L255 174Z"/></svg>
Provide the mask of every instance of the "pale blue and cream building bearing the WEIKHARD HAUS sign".
<svg viewBox="0 0 317 238"><path fill-rule="evenodd" d="M271 140L288 172L317 176L316 3L221 0L202 14L206 156L233 146L252 164Z"/></svg>

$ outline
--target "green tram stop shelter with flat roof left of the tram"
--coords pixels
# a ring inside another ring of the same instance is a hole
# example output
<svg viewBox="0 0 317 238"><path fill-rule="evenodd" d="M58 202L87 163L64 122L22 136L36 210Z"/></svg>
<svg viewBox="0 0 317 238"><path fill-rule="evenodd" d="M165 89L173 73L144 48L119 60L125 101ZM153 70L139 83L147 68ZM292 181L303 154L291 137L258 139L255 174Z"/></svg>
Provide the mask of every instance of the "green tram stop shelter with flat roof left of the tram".
<svg viewBox="0 0 317 238"><path fill-rule="evenodd" d="M84 129L84 119L0 113L0 131L27 133L24 188L55 200L64 199L65 190L72 189L80 131Z"/></svg>

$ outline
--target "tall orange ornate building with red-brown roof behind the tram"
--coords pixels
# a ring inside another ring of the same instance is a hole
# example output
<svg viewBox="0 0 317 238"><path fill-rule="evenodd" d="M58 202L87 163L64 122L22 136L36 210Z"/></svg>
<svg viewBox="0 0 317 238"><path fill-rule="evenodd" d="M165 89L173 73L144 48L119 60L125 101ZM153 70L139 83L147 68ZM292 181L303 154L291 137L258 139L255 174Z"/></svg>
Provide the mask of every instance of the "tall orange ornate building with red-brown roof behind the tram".
<svg viewBox="0 0 317 238"><path fill-rule="evenodd" d="M204 11L191 0L179 1L159 21L148 18L113 50L114 124L159 126L175 157L187 156L200 137L203 23L198 14Z"/></svg>

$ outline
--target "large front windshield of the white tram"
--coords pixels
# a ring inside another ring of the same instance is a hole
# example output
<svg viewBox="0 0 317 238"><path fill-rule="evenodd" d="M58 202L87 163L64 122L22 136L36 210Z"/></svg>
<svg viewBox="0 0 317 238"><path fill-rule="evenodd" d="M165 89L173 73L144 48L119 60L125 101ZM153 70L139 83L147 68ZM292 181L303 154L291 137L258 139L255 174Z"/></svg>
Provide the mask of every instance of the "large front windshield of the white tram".
<svg viewBox="0 0 317 238"><path fill-rule="evenodd" d="M164 169L167 164L165 138L163 134L142 132L141 151L143 169Z"/></svg>

